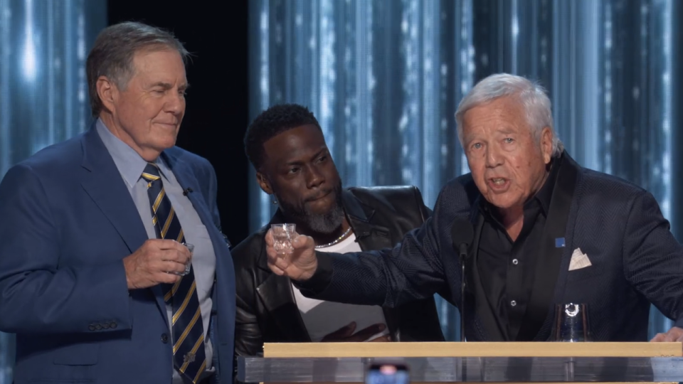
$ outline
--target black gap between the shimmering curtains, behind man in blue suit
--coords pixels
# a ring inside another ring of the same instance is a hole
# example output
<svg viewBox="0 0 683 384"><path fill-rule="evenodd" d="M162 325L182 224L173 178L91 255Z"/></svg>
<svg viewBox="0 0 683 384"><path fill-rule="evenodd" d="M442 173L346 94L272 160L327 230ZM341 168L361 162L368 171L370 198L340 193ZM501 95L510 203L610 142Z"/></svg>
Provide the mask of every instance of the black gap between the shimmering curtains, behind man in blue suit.
<svg viewBox="0 0 683 384"><path fill-rule="evenodd" d="M249 124L248 0L113 0L107 19L169 30L194 54L177 145L213 164L223 233L237 244L248 235L250 164L242 144Z"/></svg>

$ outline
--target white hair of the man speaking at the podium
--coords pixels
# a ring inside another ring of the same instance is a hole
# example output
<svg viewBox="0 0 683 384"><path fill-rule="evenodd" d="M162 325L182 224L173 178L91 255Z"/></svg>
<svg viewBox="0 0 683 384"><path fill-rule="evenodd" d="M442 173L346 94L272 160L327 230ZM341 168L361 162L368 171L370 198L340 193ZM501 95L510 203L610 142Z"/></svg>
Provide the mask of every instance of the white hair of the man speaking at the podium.
<svg viewBox="0 0 683 384"><path fill-rule="evenodd" d="M465 95L457 106L455 122L457 124L457 138L462 144L462 117L465 112L499 97L514 97L526 110L526 122L536 139L541 139L541 131L549 127L553 134L552 156L560 156L564 145L557 137L553 126L553 112L551 102L541 85L526 78L509 73L497 73L481 80Z"/></svg>

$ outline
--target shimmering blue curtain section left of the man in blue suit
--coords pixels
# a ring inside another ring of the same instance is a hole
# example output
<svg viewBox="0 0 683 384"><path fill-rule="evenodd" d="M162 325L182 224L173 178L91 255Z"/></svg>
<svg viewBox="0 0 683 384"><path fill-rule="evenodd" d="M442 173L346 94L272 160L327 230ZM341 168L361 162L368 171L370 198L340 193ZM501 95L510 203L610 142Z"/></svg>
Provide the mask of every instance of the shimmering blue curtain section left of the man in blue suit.
<svg viewBox="0 0 683 384"><path fill-rule="evenodd" d="M105 0L0 0L0 178L90 123L85 57L105 12ZM0 384L13 362L14 337L0 333Z"/></svg>

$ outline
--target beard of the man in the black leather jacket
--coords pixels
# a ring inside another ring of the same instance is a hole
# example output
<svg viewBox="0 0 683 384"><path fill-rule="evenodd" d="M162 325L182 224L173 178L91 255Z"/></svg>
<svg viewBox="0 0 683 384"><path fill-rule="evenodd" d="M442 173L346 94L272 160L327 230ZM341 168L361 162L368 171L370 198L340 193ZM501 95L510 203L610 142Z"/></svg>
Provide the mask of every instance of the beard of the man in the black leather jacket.
<svg viewBox="0 0 683 384"><path fill-rule="evenodd" d="M344 221L342 183L337 184L333 191L334 205L325 213L313 213L306 207L305 203L302 206L295 206L287 201L279 201L280 208L282 208L288 219L293 220L295 223L301 223L315 233L329 235L338 230Z"/></svg>

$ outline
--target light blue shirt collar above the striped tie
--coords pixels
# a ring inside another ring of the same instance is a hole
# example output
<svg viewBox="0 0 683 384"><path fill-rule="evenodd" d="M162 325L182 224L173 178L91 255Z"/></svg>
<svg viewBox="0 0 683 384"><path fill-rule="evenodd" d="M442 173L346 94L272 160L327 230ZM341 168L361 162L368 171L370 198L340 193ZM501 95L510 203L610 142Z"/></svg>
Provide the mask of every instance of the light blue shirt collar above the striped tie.
<svg viewBox="0 0 683 384"><path fill-rule="evenodd" d="M142 159L142 156L128 144L112 134L105 126L105 123L102 122L102 119L97 119L95 129L97 129L97 134L100 135L102 143L105 144L107 151L109 151L112 159L114 159L114 164L116 164L128 188L132 188L142 175L144 167L147 166L147 161ZM159 166L162 178L166 178L165 173L168 172L168 167L164 164L164 161L159 157L154 163Z"/></svg>

